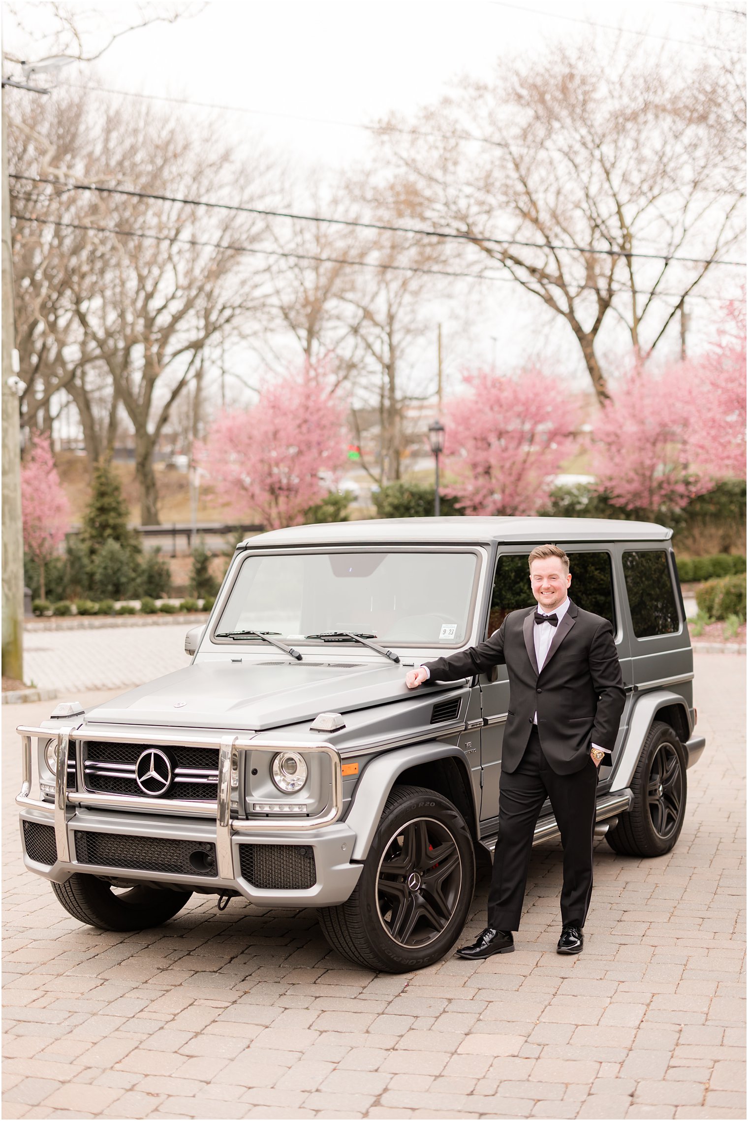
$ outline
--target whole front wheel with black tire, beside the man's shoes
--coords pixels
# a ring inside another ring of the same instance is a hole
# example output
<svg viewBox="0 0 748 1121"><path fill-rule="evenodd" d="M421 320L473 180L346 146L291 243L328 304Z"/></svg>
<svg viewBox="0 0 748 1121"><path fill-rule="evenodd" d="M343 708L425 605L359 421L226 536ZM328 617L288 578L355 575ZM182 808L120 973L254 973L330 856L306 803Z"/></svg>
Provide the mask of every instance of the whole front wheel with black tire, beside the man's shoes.
<svg viewBox="0 0 748 1121"><path fill-rule="evenodd" d="M475 888L465 818L440 794L395 786L350 898L318 911L333 949L403 973L432 965L459 938Z"/></svg>

